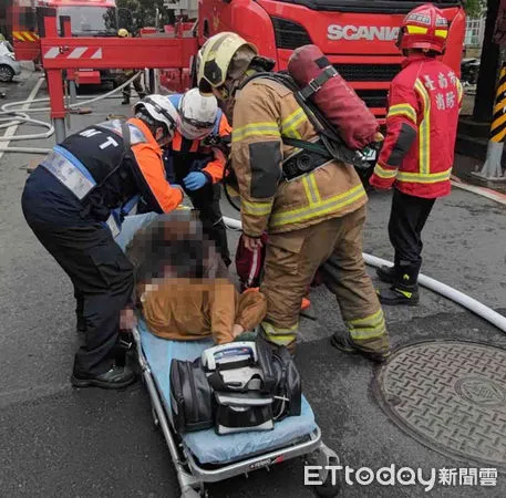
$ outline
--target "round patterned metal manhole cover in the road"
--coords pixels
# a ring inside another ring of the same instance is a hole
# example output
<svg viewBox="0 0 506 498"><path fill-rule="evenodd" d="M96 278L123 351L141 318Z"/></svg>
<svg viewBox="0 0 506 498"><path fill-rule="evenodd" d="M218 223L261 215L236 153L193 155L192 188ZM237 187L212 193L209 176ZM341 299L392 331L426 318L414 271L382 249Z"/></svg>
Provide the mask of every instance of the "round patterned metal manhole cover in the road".
<svg viewBox="0 0 506 498"><path fill-rule="evenodd" d="M452 457L506 471L506 350L431 341L395 352L376 377L389 416Z"/></svg>

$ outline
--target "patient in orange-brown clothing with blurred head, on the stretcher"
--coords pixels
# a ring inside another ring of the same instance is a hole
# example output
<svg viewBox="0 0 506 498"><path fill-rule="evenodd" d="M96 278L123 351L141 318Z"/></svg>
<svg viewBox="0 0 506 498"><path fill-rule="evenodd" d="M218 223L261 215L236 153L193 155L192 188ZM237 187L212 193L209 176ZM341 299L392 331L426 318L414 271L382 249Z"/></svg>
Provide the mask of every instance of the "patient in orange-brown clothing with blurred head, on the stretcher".
<svg viewBox="0 0 506 498"><path fill-rule="evenodd" d="M259 292L240 294L214 243L188 211L163 215L127 248L135 298L149 331L164 339L213 336L224 344L254 330L267 312Z"/></svg>

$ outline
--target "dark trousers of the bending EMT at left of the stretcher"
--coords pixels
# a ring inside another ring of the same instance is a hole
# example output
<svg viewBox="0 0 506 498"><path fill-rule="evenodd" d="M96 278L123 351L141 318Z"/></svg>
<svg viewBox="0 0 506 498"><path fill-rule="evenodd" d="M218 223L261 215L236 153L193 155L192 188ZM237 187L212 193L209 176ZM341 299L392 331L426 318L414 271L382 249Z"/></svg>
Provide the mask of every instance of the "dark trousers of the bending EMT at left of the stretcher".
<svg viewBox="0 0 506 498"><path fill-rule="evenodd" d="M25 218L74 286L78 313L85 325L74 374L92 377L107 372L120 351L120 312L132 298L132 263L101 224L63 228L32 221L27 211Z"/></svg>

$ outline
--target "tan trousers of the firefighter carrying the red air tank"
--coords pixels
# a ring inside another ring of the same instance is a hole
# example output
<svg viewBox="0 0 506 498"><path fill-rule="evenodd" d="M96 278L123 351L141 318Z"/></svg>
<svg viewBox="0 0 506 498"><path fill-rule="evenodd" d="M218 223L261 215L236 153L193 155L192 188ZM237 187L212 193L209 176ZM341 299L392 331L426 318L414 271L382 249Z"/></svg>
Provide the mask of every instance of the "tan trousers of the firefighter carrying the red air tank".
<svg viewBox="0 0 506 498"><path fill-rule="evenodd" d="M269 235L260 291L267 298L266 338L292 347L300 302L320 268L335 294L351 340L372 352L389 350L383 311L362 258L365 207L300 230ZM327 262L326 262L327 261Z"/></svg>

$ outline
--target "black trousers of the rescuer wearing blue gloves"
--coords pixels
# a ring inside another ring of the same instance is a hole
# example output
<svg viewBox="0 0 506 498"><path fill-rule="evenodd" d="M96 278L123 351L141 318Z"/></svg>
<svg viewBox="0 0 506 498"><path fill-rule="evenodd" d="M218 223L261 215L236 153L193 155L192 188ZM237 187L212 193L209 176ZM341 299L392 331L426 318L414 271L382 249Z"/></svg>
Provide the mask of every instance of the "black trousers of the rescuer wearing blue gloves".
<svg viewBox="0 0 506 498"><path fill-rule="evenodd" d="M203 230L216 243L221 259L228 267L231 262L228 250L227 227L224 222L219 199L221 187L219 184L206 184L198 190L186 190L195 209L198 210Z"/></svg>

